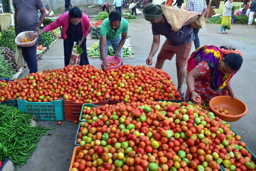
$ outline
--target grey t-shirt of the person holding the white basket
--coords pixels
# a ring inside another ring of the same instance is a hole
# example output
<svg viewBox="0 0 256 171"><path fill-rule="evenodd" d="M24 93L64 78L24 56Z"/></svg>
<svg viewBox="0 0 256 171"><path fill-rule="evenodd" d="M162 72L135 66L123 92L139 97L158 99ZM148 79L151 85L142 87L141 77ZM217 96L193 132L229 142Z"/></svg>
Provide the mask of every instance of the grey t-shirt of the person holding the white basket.
<svg viewBox="0 0 256 171"><path fill-rule="evenodd" d="M35 30L38 25L38 9L44 8L42 0L13 0L17 13L17 27L20 30Z"/></svg>

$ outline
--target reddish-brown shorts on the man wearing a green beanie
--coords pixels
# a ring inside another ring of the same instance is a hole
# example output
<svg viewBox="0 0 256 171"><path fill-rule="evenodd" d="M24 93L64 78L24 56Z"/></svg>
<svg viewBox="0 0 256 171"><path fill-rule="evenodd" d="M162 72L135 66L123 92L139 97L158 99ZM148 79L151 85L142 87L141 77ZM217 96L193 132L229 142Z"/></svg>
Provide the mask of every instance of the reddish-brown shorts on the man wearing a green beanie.
<svg viewBox="0 0 256 171"><path fill-rule="evenodd" d="M192 42L193 41L185 43L180 46L173 46L166 39L166 41L162 45L160 52L158 53L157 60L162 61L169 59L171 61L174 54L176 54L176 66L187 66L187 60L189 59L189 53L192 48Z"/></svg>

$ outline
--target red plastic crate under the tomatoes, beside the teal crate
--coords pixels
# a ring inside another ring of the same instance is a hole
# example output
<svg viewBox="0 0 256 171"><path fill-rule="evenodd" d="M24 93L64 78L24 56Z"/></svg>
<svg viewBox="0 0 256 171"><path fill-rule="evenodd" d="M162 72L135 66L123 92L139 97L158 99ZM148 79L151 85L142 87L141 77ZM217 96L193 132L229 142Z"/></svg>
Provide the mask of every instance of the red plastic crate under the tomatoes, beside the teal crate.
<svg viewBox="0 0 256 171"><path fill-rule="evenodd" d="M96 106L102 106L108 104L109 100L102 100L99 103L90 103ZM75 103L70 100L64 100L64 111L65 111L65 121L79 120L82 105L84 103Z"/></svg>

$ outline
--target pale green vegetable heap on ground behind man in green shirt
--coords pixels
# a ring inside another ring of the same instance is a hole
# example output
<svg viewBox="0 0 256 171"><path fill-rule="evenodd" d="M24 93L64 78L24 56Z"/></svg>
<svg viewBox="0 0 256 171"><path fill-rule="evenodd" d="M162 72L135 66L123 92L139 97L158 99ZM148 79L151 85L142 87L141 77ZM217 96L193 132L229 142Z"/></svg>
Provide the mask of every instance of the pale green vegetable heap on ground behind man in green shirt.
<svg viewBox="0 0 256 171"><path fill-rule="evenodd" d="M87 54L88 56L91 56L91 58L99 58L99 41L93 42L93 45L91 45L89 48L87 48ZM128 57L134 54L131 47L128 47L126 45L123 45L123 56ZM108 47L108 56L115 56L114 49L112 45Z"/></svg>

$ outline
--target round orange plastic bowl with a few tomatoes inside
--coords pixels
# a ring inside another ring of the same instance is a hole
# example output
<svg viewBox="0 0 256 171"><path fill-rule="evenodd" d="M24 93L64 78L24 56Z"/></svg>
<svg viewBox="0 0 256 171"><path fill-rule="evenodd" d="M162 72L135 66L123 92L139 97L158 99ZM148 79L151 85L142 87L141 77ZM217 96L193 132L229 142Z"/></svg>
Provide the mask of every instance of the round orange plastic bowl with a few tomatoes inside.
<svg viewBox="0 0 256 171"><path fill-rule="evenodd" d="M232 97L226 95L213 97L209 101L209 107L216 117L228 122L238 121L247 113L247 106L244 102L238 98L232 100ZM218 110L215 110L217 107L222 107L223 110L229 110L229 114L224 115L219 113Z"/></svg>

